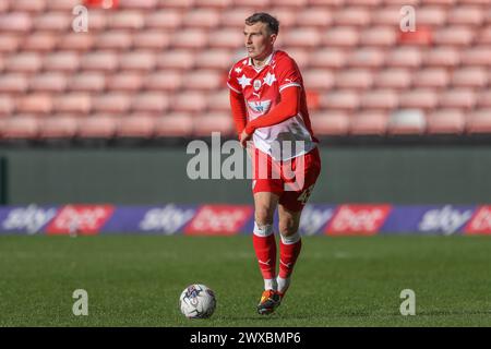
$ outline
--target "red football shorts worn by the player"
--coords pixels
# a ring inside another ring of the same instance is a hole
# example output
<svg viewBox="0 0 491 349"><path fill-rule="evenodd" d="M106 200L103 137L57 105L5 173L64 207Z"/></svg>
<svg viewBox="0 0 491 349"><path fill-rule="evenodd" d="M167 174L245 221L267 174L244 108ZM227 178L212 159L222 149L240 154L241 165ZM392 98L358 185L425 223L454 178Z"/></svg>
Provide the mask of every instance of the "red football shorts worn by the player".
<svg viewBox="0 0 491 349"><path fill-rule="evenodd" d="M321 172L319 148L289 160L276 161L254 148L252 153L252 192L270 192L279 204L299 212L303 208Z"/></svg>

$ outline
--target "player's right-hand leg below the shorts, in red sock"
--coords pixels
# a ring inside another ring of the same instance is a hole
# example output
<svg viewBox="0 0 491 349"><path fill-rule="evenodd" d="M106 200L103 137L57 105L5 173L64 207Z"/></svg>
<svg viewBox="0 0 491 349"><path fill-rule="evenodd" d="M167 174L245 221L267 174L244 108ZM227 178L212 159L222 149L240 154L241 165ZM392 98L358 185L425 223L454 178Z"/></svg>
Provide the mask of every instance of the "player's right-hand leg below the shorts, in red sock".
<svg viewBox="0 0 491 349"><path fill-rule="evenodd" d="M277 290L283 297L290 286L294 266L302 248L302 240L298 231L301 210L290 210L280 204L278 206L278 215L280 241Z"/></svg>

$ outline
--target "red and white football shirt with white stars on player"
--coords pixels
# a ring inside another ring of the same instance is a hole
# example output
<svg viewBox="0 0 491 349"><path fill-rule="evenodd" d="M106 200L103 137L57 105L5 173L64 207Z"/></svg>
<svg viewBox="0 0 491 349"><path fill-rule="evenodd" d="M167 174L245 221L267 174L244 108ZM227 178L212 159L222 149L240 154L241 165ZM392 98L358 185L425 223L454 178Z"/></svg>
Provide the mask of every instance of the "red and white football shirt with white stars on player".
<svg viewBox="0 0 491 349"><path fill-rule="evenodd" d="M275 160L298 157L316 146L319 141L312 132L302 76L297 63L286 52L274 51L259 69L253 65L250 58L241 59L231 68L227 85L243 95L248 121L274 108L282 100L283 89L301 88L298 115L278 124L256 129L252 141L256 148L271 155ZM277 153L273 152L273 148L284 141L291 142L291 151L282 152L280 158L277 158ZM303 146L295 146L296 142L302 142Z"/></svg>

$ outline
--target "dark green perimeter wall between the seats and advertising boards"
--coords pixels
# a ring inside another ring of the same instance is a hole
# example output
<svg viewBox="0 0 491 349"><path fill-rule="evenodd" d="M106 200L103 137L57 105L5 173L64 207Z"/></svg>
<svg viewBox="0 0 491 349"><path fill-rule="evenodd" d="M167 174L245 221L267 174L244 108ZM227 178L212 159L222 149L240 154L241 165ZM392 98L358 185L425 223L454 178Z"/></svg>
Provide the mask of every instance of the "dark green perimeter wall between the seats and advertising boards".
<svg viewBox="0 0 491 349"><path fill-rule="evenodd" d="M323 147L313 203L490 203L491 147ZM191 180L185 148L0 148L8 204L251 203L250 180ZM223 159L228 155L223 155Z"/></svg>

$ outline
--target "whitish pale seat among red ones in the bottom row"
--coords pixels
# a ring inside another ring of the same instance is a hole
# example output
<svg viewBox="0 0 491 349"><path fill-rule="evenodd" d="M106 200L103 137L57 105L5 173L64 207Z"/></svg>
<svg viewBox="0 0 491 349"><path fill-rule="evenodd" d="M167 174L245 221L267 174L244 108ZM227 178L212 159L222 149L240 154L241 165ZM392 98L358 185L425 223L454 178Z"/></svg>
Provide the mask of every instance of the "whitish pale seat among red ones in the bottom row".
<svg viewBox="0 0 491 349"><path fill-rule="evenodd" d="M427 120L421 110L406 109L391 113L387 124L388 134L422 134Z"/></svg>

